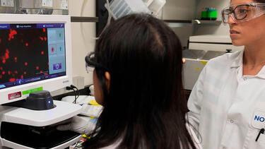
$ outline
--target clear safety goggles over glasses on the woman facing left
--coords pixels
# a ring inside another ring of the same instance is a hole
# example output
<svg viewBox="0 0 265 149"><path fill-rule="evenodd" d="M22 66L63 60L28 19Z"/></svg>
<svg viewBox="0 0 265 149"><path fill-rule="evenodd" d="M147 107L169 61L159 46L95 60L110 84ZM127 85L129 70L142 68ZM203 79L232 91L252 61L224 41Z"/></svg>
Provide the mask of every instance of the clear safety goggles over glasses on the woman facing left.
<svg viewBox="0 0 265 149"><path fill-rule="evenodd" d="M228 23L229 17L231 17L235 23L242 23L257 18L264 13L264 3L236 4L223 8L222 19L224 24Z"/></svg>

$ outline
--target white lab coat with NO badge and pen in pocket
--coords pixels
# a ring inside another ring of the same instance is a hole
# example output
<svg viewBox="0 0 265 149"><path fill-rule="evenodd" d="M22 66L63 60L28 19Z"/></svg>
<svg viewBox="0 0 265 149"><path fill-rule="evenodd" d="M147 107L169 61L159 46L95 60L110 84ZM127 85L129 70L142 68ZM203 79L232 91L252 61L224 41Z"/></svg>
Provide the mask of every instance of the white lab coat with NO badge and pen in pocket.
<svg viewBox="0 0 265 149"><path fill-rule="evenodd" d="M189 97L189 122L204 149L265 148L265 67L242 76L244 51L208 61Z"/></svg>

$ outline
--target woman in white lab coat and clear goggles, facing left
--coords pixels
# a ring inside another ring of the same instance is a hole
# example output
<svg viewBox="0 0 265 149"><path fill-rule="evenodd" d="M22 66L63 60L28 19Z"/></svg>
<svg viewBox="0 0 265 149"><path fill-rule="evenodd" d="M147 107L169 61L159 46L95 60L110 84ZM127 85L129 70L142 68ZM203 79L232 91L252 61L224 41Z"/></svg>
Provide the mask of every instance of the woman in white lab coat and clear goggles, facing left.
<svg viewBox="0 0 265 149"><path fill-rule="evenodd" d="M242 51L211 59L189 97L203 148L265 148L265 0L231 0L222 11Z"/></svg>

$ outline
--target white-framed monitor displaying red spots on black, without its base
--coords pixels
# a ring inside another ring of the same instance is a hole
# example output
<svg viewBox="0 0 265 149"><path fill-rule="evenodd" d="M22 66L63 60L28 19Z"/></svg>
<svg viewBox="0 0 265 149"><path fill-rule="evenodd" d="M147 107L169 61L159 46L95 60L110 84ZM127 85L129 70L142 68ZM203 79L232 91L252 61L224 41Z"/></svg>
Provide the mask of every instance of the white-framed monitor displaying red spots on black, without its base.
<svg viewBox="0 0 265 149"><path fill-rule="evenodd" d="M0 104L72 83L71 18L0 14Z"/></svg>

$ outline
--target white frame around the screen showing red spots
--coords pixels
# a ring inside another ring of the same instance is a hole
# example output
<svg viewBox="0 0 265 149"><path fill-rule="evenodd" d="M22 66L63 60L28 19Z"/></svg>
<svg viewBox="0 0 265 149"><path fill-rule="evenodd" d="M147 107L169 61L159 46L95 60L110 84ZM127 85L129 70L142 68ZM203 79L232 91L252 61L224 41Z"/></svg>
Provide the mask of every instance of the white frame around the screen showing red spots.
<svg viewBox="0 0 265 149"><path fill-rule="evenodd" d="M66 76L50 78L43 81L17 85L11 88L0 90L0 105L8 102L16 102L28 97L29 94L23 95L25 90L34 90L42 88L52 92L65 88L72 84L72 63L71 63L71 16L64 15L29 15L29 14L0 14L0 24L31 24L31 23L64 23L65 37L65 54L66 54ZM8 95L18 95L18 97L10 100ZM20 96L20 97L19 97Z"/></svg>

